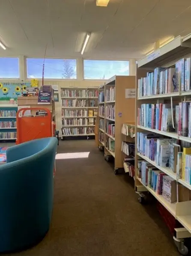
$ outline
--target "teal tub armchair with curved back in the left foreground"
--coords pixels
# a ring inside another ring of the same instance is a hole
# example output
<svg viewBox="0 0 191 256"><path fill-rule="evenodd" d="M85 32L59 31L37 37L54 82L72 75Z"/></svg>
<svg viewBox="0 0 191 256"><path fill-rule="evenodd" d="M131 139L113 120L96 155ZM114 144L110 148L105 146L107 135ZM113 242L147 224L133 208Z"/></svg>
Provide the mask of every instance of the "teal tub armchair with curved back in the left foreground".
<svg viewBox="0 0 191 256"><path fill-rule="evenodd" d="M48 232L56 151L55 137L7 149L0 166L0 253L27 249Z"/></svg>

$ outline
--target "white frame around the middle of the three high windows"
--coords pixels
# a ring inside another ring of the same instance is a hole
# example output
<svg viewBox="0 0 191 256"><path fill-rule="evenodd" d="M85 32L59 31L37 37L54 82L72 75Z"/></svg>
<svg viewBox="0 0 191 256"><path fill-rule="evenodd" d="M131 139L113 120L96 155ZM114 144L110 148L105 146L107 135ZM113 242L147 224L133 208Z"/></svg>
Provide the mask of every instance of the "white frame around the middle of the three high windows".
<svg viewBox="0 0 191 256"><path fill-rule="evenodd" d="M27 59L44 59L43 57L29 57L29 56L25 56L24 57L24 74L25 74L25 80L31 80L33 78L29 78L27 77ZM61 59L61 60L65 60L64 58L45 58L45 59ZM66 60L69 59L69 58L66 58ZM53 81L77 81L79 80L78 79L78 59L75 59L75 58L70 58L69 60L76 60L76 78L71 78L71 79L68 79L68 78L63 78L63 79L60 79L60 78L44 78L44 81L50 81L50 80L53 80ZM42 81L42 78L35 78L39 81Z"/></svg>

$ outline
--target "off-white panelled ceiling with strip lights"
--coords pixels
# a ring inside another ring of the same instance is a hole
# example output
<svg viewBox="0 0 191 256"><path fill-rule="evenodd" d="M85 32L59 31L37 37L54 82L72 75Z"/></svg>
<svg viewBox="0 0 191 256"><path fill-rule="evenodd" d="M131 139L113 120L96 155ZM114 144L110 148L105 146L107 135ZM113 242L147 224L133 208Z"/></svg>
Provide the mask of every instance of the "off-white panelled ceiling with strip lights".
<svg viewBox="0 0 191 256"><path fill-rule="evenodd" d="M191 33L191 0L0 0L0 56L139 58L157 40Z"/></svg>

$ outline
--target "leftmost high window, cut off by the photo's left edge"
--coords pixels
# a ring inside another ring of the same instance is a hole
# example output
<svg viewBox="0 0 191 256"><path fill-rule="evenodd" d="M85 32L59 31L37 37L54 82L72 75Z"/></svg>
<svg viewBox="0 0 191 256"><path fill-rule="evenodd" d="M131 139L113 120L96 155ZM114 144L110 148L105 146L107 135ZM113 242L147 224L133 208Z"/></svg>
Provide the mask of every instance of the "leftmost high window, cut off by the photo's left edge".
<svg viewBox="0 0 191 256"><path fill-rule="evenodd" d="M19 59L0 58L0 78L19 78Z"/></svg>

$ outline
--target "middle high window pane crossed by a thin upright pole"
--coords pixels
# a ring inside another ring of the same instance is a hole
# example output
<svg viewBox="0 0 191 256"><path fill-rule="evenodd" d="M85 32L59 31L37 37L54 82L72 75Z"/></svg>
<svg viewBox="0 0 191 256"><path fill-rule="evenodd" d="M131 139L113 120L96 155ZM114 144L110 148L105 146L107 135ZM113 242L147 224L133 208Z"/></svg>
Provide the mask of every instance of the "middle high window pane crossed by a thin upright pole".
<svg viewBox="0 0 191 256"><path fill-rule="evenodd" d="M42 78L44 59L27 58L27 78ZM76 59L45 59L45 79L76 79Z"/></svg>

